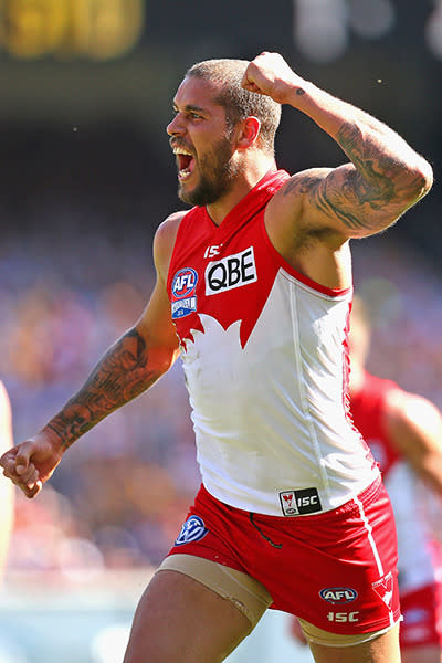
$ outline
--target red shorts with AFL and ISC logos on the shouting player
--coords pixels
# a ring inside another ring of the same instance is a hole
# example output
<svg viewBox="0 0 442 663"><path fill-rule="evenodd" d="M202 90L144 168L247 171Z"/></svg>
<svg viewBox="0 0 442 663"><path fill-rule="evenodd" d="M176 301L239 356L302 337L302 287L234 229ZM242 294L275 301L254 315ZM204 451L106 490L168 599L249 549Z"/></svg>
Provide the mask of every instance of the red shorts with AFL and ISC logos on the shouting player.
<svg viewBox="0 0 442 663"><path fill-rule="evenodd" d="M335 633L400 618L396 527L380 480L332 512L267 516L228 506L201 486L169 551L249 573L283 610Z"/></svg>

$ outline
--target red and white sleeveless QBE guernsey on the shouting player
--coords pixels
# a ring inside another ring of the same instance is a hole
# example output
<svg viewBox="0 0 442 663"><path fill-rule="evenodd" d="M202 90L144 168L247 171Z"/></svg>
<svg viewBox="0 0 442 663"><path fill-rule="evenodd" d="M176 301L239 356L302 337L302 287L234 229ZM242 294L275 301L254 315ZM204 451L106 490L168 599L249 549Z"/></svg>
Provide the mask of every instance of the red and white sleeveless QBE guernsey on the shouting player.
<svg viewBox="0 0 442 663"><path fill-rule="evenodd" d="M336 508L379 475L347 414L352 292L318 285L271 244L269 172L217 227L182 219L168 275L206 488L236 508Z"/></svg>

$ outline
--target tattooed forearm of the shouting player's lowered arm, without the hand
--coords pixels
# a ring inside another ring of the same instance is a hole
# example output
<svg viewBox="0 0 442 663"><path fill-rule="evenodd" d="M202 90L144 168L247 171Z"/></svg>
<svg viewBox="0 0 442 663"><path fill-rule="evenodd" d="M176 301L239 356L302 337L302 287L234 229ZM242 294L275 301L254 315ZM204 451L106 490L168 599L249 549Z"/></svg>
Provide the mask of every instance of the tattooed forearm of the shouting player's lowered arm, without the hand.
<svg viewBox="0 0 442 663"><path fill-rule="evenodd" d="M46 425L66 449L114 410L150 387L162 373L149 367L145 340L127 332L106 352L82 389Z"/></svg>

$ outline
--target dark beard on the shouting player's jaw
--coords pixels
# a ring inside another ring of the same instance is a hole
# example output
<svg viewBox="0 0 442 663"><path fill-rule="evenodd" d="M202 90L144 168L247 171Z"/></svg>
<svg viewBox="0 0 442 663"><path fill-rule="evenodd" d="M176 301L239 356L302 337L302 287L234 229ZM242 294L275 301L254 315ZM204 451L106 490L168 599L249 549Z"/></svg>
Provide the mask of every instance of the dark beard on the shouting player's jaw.
<svg viewBox="0 0 442 663"><path fill-rule="evenodd" d="M212 204L228 193L239 172L232 161L232 146L228 138L222 138L210 155L201 157L198 162L200 182L192 191L178 187L178 197L182 202L203 207Z"/></svg>

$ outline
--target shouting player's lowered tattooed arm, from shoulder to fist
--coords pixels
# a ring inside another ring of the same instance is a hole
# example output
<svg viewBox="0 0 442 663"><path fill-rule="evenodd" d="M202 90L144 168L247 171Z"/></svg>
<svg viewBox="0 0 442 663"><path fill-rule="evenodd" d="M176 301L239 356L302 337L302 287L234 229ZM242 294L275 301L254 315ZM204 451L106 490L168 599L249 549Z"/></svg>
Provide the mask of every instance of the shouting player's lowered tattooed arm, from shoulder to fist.
<svg viewBox="0 0 442 663"><path fill-rule="evenodd" d="M35 436L0 459L3 474L28 497L40 492L75 440L151 387L177 358L166 275L178 222L175 215L157 231L157 282L139 320L107 350L80 391Z"/></svg>

